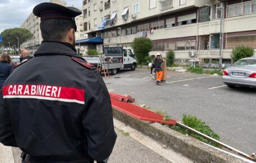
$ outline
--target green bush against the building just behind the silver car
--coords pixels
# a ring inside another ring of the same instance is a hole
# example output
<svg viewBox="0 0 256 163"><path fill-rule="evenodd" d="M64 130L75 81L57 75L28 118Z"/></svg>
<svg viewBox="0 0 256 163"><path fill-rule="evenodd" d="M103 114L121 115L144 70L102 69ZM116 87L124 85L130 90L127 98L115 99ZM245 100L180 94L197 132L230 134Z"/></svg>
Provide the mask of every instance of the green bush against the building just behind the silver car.
<svg viewBox="0 0 256 163"><path fill-rule="evenodd" d="M254 49L251 47L246 46L238 46L233 48L233 51L230 57L233 59L234 62L240 60L241 58L245 57L252 57L254 55Z"/></svg>

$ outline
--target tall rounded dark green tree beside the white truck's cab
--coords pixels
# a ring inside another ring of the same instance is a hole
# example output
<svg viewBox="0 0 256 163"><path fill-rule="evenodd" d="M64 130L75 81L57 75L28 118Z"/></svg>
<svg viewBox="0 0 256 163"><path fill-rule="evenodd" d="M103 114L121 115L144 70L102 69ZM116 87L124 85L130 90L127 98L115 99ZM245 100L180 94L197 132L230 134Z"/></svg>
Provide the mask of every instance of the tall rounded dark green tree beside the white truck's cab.
<svg viewBox="0 0 256 163"><path fill-rule="evenodd" d="M149 38L135 38L131 47L133 47L138 64L142 64L145 63L148 53L153 47L153 43Z"/></svg>

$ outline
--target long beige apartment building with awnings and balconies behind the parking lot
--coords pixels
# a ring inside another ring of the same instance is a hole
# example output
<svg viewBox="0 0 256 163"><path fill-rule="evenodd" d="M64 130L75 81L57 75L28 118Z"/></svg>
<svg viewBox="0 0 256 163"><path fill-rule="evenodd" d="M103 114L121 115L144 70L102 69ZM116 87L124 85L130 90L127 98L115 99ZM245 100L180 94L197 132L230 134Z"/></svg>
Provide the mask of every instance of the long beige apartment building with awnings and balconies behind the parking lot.
<svg viewBox="0 0 256 163"><path fill-rule="evenodd" d="M176 62L193 55L210 60L220 55L230 62L233 47L256 48L255 0L84 0L83 12L89 38L102 39L91 46L98 51L102 46L129 47L134 38L148 37L153 40L151 55L173 49Z"/></svg>

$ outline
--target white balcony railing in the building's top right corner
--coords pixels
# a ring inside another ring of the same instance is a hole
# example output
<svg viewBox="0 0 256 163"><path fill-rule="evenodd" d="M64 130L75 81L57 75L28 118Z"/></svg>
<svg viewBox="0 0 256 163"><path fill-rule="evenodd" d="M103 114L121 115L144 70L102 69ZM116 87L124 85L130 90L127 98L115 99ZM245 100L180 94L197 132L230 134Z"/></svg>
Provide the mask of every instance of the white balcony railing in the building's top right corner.
<svg viewBox="0 0 256 163"><path fill-rule="evenodd" d="M227 17L256 13L256 1L236 3L227 6Z"/></svg>

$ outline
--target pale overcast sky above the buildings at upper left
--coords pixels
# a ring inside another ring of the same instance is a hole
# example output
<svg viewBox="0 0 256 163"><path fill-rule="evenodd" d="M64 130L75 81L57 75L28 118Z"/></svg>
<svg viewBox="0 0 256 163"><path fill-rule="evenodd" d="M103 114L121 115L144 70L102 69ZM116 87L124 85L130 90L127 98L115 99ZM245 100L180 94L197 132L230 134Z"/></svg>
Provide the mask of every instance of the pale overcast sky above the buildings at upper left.
<svg viewBox="0 0 256 163"><path fill-rule="evenodd" d="M20 27L34 6L50 0L0 0L0 33L8 28ZM65 0L68 6L82 7L82 0Z"/></svg>

